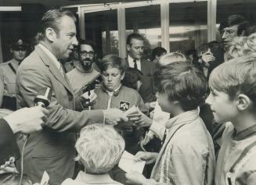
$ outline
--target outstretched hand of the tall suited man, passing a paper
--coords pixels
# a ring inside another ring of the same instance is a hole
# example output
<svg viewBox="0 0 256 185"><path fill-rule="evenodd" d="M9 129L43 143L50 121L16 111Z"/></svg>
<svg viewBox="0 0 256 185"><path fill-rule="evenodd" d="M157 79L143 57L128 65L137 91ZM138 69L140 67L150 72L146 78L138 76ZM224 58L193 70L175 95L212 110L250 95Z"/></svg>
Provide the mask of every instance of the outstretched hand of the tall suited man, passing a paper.
<svg viewBox="0 0 256 185"><path fill-rule="evenodd" d="M106 109L103 110L103 114L106 124L117 125L118 122L128 121L128 117L126 117L124 112L121 112L119 109Z"/></svg>

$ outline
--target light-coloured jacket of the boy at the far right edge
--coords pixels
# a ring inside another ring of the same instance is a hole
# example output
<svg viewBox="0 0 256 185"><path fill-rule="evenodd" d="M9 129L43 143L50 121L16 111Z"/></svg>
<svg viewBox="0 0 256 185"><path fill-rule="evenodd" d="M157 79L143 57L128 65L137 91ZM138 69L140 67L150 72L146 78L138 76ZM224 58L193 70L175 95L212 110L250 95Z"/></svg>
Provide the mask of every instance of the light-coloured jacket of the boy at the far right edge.
<svg viewBox="0 0 256 185"><path fill-rule="evenodd" d="M248 147L251 149L246 150ZM231 177L230 182L228 182L228 176ZM255 184L256 125L236 133L232 123L226 123L222 147L218 153L215 185Z"/></svg>

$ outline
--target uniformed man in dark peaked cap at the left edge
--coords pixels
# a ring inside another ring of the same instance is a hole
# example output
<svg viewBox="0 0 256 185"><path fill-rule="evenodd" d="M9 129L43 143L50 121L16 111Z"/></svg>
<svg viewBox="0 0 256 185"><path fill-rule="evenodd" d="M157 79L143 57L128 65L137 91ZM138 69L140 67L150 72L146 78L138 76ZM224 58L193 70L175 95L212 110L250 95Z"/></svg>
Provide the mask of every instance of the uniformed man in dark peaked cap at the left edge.
<svg viewBox="0 0 256 185"><path fill-rule="evenodd" d="M18 38L10 45L13 59L0 66L0 106L16 110L16 70L27 55L28 44Z"/></svg>

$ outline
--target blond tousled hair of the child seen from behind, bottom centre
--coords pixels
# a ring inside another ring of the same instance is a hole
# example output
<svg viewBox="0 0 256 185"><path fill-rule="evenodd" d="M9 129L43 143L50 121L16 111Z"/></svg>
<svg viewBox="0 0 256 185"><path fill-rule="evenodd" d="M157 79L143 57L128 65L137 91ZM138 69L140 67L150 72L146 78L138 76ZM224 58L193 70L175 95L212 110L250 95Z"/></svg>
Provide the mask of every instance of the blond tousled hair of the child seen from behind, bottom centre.
<svg viewBox="0 0 256 185"><path fill-rule="evenodd" d="M124 145L124 139L113 126L99 123L85 126L75 144L76 160L85 165L85 173L108 173L118 164Z"/></svg>

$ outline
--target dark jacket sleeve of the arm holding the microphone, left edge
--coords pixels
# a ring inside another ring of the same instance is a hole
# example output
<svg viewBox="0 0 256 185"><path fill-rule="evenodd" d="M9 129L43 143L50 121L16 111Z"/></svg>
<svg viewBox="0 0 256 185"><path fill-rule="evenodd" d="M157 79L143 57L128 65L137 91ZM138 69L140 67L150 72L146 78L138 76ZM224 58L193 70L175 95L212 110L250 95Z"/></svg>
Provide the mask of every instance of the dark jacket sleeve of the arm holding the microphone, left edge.
<svg viewBox="0 0 256 185"><path fill-rule="evenodd" d="M20 157L20 151L16 144L16 137L5 119L0 119L0 151L0 165L9 162L11 157Z"/></svg>

